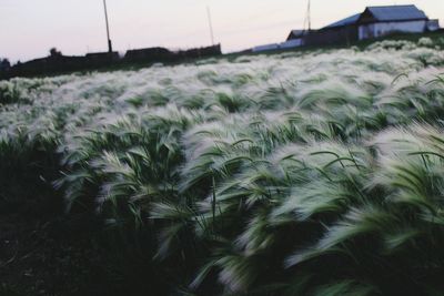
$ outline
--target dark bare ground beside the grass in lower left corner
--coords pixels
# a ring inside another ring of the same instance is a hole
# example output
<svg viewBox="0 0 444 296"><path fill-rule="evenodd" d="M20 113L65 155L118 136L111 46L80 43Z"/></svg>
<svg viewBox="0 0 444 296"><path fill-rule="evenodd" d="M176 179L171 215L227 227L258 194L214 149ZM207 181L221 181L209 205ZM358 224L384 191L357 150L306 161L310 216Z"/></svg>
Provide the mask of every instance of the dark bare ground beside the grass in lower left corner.
<svg viewBox="0 0 444 296"><path fill-rule="evenodd" d="M113 295L111 277L90 231L0 215L0 295Z"/></svg>

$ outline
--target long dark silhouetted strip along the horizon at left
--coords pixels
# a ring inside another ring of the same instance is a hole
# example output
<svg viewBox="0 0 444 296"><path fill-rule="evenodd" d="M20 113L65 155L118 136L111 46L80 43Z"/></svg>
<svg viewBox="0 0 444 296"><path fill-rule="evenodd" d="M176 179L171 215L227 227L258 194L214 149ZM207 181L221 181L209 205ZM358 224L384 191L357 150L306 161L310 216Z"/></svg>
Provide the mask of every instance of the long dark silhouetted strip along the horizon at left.
<svg viewBox="0 0 444 296"><path fill-rule="evenodd" d="M129 50L123 58L118 52L99 52L81 57L68 57L61 54L56 49L51 49L50 53L47 58L24 63L18 62L12 67L0 68L0 79L50 75L139 63L175 63L222 54L220 44L181 51L170 51L164 48Z"/></svg>

